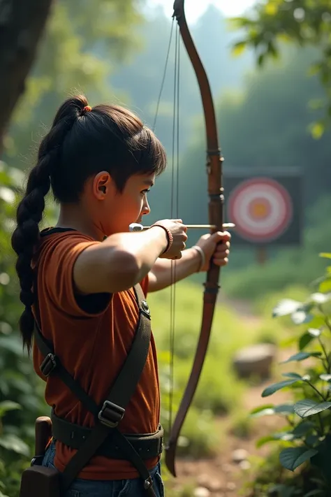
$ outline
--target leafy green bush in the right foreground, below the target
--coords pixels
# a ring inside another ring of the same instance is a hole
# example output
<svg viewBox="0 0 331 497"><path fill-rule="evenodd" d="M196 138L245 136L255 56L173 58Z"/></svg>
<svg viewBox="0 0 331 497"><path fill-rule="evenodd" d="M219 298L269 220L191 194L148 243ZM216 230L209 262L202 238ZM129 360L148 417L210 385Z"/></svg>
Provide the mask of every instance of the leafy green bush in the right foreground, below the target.
<svg viewBox="0 0 331 497"><path fill-rule="evenodd" d="M331 254L321 256L326 260L331 258ZM279 496L326 496L331 490L327 463L331 456L330 274L331 266L328 266L316 291L304 301L283 298L273 311L274 317L290 317L298 327L299 333L295 333L298 352L283 361L283 364L295 363L295 372L282 373L286 379L266 387L262 396L290 389L293 401L286 405L262 405L251 412L253 417L280 415L287 422L281 431L258 440L258 446L279 442L281 466L292 472L301 467L302 474L309 472L315 478L313 489L305 484L293 487L293 482L281 482L276 489Z"/></svg>

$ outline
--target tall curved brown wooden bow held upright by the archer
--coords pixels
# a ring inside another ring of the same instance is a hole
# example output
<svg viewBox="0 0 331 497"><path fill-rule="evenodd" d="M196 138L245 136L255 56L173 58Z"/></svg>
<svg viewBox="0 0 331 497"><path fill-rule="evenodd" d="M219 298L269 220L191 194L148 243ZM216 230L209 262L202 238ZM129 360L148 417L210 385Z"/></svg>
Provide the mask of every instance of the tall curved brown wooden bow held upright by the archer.
<svg viewBox="0 0 331 497"><path fill-rule="evenodd" d="M203 101L203 110L205 114L205 128L207 138L207 176L208 176L208 194L209 194L209 223L216 226L214 231L223 229L223 187L222 187L222 161L221 150L219 148L219 139L216 127L216 117L212 92L210 90L207 74L200 60L193 39L187 26L184 13L184 0L175 0L174 14L179 25L179 31L182 35L186 51L191 59L193 69L196 72L200 94ZM219 275L220 268L213 263L210 264L205 282L205 291L203 296L203 319L201 331L196 348L196 354L193 366L189 376L189 382L186 385L184 396L179 405L175 422L169 435L168 447L165 449L165 464L173 476L176 476L175 456L177 441L180 431L186 419L187 412L193 400L193 396L198 386L203 363L207 354L210 332L212 329L212 320L216 304L217 294L219 292Z"/></svg>

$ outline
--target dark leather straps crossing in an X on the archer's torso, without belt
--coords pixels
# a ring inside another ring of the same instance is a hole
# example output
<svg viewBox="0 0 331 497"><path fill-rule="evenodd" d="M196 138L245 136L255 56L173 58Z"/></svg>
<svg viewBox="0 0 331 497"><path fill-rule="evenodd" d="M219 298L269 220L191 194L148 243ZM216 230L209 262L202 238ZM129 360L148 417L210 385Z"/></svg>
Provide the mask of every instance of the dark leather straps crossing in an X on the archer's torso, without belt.
<svg viewBox="0 0 331 497"><path fill-rule="evenodd" d="M45 359L41 364L41 372L45 376L57 374L66 386L73 391L73 394L79 398L84 407L92 412L96 418L96 424L92 428L89 437L71 458L71 461L69 461L61 475L62 491L66 491L70 487L75 477L80 473L80 470L86 466L105 439L112 437L113 441L121 447L128 460L133 463L133 466L140 473L142 480L144 480L144 487L147 493L152 497L155 496L152 479L145 463L131 443L128 442L117 428L119 422L124 417L126 406L137 387L142 370L145 368L151 338L151 316L140 284L135 285L134 291L139 307L139 320L135 338L133 339L131 350L128 352L124 366L101 408L96 405L94 400L82 389L78 381L74 380L64 366L62 366L61 361L54 354L52 345L45 340L40 326L36 322L36 345L42 354L45 354Z"/></svg>

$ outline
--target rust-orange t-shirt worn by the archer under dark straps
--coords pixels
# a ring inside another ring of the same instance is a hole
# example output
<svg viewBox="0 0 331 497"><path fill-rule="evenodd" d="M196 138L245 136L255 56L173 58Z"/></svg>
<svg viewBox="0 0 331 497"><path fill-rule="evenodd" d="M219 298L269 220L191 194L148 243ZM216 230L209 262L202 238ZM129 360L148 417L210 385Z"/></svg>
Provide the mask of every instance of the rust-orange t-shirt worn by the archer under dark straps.
<svg viewBox="0 0 331 497"><path fill-rule="evenodd" d="M96 243L101 242L78 231L45 230L34 264L38 270L38 311L43 336L52 342L68 372L101 404L133 342L138 305L133 289L113 295L75 295L75 260ZM146 294L148 277L141 285ZM39 368L42 361L43 356L34 345L34 368L46 380ZM93 415L56 375L47 378L45 400L57 416L82 426L94 425ZM159 377L152 336L145 368L119 429L123 433L152 433L158 428L159 415ZM54 465L64 470L74 452L57 441ZM149 469L157 462L157 458L145 461ZM94 456L79 476L87 480L123 480L138 477L138 473L129 461Z"/></svg>

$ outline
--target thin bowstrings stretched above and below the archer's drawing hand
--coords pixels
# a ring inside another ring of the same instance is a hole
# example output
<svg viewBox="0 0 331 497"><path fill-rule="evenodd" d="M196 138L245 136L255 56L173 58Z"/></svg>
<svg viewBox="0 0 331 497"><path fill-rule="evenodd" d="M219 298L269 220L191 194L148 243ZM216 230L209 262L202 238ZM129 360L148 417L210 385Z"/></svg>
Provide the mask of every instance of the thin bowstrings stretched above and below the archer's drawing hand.
<svg viewBox="0 0 331 497"><path fill-rule="evenodd" d="M170 30L170 39L168 43L167 55L165 58L165 67L163 70L163 77L161 81L161 89L156 103L156 114L154 117L153 130L155 131L156 120L159 115L159 106L161 103L161 96L165 83L165 76L168 69L168 62L170 57L170 48L172 45L172 35L175 19L172 18L172 25ZM170 194L170 218L178 219L179 217L179 27L175 31L175 71L173 81L173 116L172 116L172 152L171 152L171 194ZM169 331L169 406L168 406L168 433L171 432L172 427L172 413L173 413L173 386L174 386L174 356L175 356L175 301L176 301L176 268L175 260L171 261L170 266L170 331Z"/></svg>

